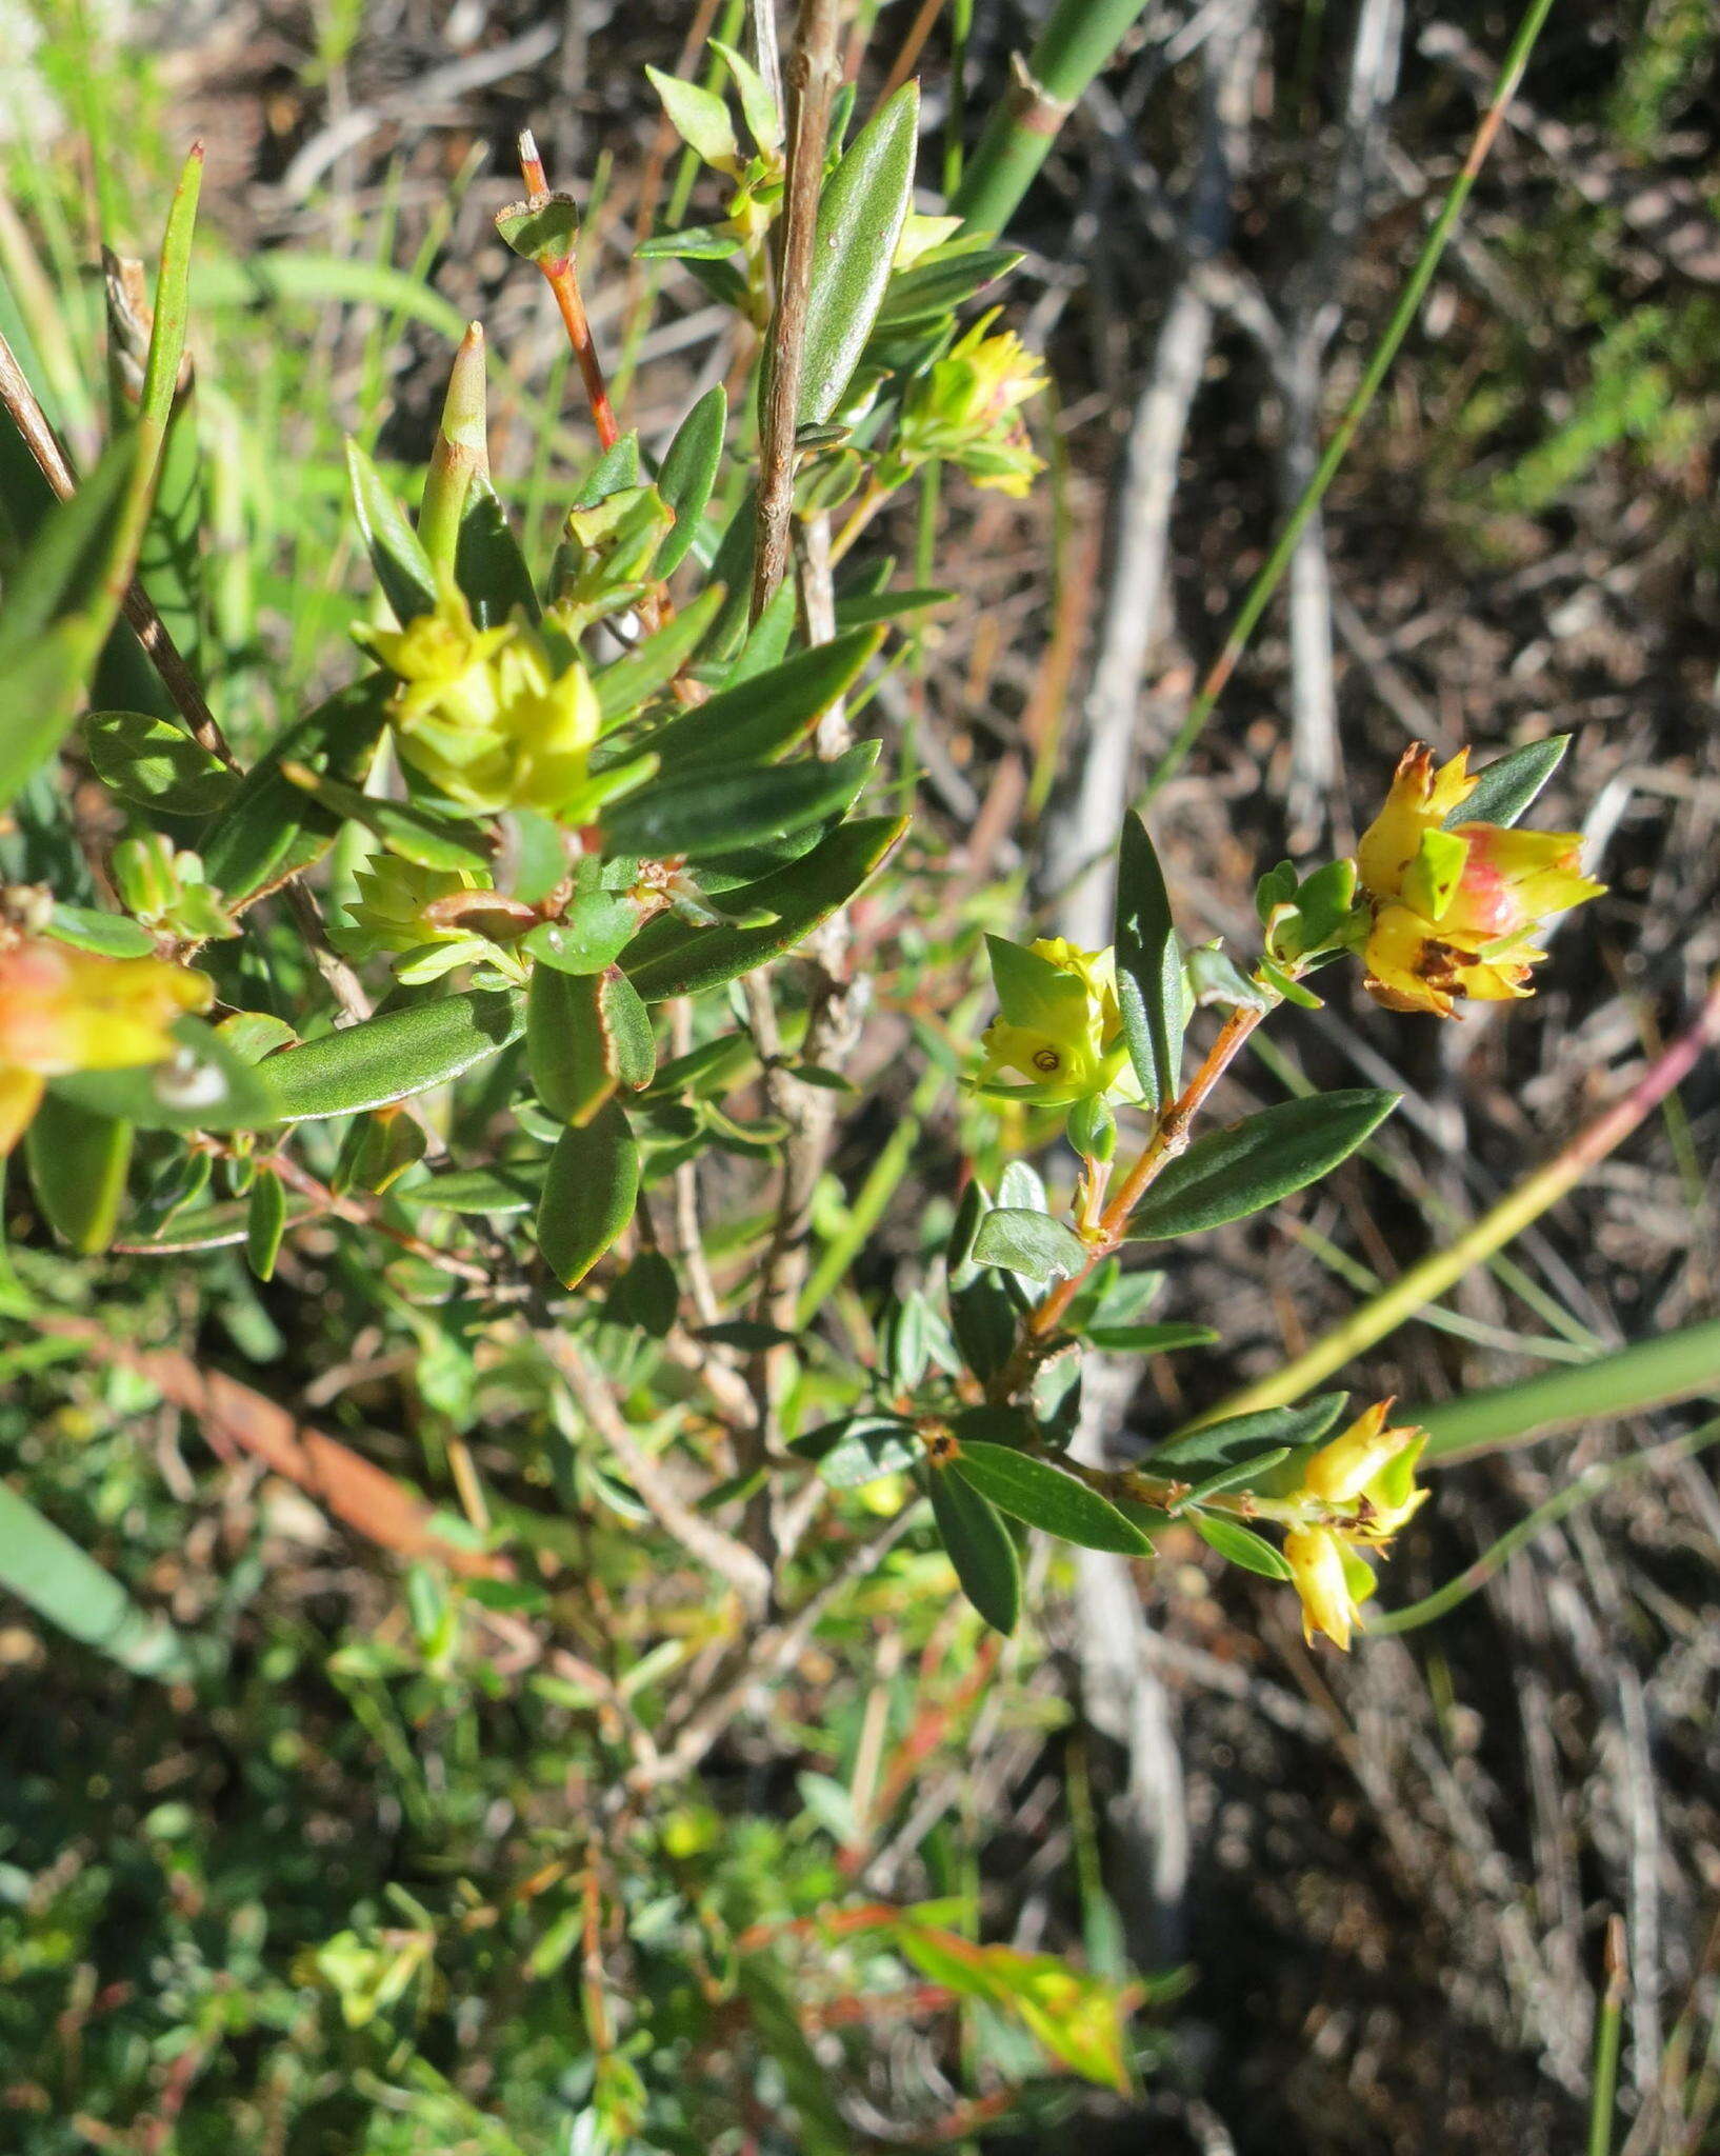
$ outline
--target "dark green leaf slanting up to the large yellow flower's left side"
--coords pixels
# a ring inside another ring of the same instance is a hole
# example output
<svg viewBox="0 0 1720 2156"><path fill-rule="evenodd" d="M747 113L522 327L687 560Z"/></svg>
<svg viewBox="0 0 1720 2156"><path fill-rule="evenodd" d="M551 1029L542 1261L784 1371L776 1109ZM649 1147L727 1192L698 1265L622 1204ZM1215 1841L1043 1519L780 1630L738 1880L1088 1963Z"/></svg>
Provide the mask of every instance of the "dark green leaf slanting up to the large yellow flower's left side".
<svg viewBox="0 0 1720 2156"><path fill-rule="evenodd" d="M203 871L228 906L274 890L334 845L341 819L293 785L287 763L360 783L388 718L392 681L373 673L336 690L254 763L203 841Z"/></svg>

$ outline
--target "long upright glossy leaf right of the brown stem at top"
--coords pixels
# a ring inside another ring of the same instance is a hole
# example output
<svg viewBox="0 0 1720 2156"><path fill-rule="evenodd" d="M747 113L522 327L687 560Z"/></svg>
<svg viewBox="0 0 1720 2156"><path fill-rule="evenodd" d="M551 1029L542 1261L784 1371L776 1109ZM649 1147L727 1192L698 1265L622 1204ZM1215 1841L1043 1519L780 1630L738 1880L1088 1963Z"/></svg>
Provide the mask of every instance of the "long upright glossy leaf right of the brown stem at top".
<svg viewBox="0 0 1720 2156"><path fill-rule="evenodd" d="M877 321L914 194L918 129L918 84L905 82L823 183L795 414L802 427L836 410Z"/></svg>

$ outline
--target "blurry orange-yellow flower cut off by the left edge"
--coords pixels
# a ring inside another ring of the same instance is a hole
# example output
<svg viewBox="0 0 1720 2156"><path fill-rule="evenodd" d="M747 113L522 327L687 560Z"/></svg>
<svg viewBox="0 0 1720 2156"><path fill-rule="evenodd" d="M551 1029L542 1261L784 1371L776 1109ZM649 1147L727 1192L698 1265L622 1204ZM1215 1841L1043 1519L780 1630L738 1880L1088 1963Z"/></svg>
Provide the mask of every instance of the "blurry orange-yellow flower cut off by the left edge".
<svg viewBox="0 0 1720 2156"><path fill-rule="evenodd" d="M50 1078L172 1054L170 1024L203 1011L207 975L155 957L93 957L34 938L0 949L0 1156L24 1136Z"/></svg>

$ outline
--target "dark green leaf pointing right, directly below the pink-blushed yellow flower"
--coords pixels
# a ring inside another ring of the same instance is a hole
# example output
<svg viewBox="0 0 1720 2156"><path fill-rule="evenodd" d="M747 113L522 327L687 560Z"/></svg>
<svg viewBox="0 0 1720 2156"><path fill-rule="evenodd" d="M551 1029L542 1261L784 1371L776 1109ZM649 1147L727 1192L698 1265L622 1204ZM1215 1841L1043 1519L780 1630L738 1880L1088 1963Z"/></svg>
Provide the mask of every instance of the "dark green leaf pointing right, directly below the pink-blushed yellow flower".
<svg viewBox="0 0 1720 2156"><path fill-rule="evenodd" d="M1129 1240L1198 1235L1306 1190L1384 1123L1397 1097L1371 1087L1317 1093L1196 1138L1136 1205Z"/></svg>

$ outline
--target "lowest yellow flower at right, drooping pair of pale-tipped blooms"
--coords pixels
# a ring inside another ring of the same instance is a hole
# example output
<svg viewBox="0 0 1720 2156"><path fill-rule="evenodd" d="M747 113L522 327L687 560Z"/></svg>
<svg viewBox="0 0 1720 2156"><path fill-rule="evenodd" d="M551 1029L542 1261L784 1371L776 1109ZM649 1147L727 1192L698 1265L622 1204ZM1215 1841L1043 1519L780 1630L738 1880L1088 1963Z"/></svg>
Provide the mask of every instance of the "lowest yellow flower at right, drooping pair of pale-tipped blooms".
<svg viewBox="0 0 1720 2156"><path fill-rule="evenodd" d="M1302 1598L1302 1636L1326 1632L1349 1647L1373 1593L1373 1565L1362 1550L1384 1552L1392 1535L1427 1498L1416 1488L1416 1460L1427 1432L1388 1429L1390 1399L1375 1401L1308 1462L1298 1496L1326 1518L1285 1535L1285 1561Z"/></svg>

